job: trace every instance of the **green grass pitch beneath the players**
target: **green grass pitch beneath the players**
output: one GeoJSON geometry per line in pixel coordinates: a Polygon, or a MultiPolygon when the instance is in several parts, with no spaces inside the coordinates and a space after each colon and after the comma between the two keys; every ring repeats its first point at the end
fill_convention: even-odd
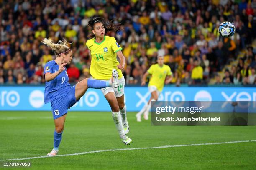
{"type": "MultiPolygon", "coordinates": [[[[133,139],[125,146],[110,112],[69,112],[59,154],[120,148],[256,140],[255,126],[151,126],[128,112],[133,139]]],[[[44,156],[53,147],[51,112],[0,112],[0,160],[44,156]]],[[[0,169],[255,169],[256,142],[118,150],[74,156],[0,161],[0,169]],[[30,162],[31,167],[3,167],[30,162]]]]}

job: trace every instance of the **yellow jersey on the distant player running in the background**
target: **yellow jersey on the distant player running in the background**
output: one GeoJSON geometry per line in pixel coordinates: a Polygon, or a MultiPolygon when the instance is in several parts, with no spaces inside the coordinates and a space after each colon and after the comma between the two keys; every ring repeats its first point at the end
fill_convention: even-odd
{"type": "Polygon", "coordinates": [[[153,64],[148,69],[148,73],[151,74],[148,86],[154,85],[157,90],[162,91],[164,88],[164,81],[167,75],[172,75],[171,68],[168,65],[160,67],[159,64],[153,64]]]}

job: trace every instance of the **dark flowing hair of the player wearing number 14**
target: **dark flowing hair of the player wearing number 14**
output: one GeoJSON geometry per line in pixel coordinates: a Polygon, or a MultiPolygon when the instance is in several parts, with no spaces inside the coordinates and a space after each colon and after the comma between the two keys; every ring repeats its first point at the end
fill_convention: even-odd
{"type": "MultiPolygon", "coordinates": [[[[121,24],[120,23],[114,24],[114,20],[109,21],[109,20],[105,20],[104,18],[94,17],[90,19],[90,21],[88,22],[88,25],[93,29],[95,23],[103,24],[105,28],[105,35],[107,34],[107,32],[110,32],[110,31],[118,32],[121,30],[121,24]]],[[[91,32],[87,37],[91,39],[91,38],[94,38],[95,35],[91,32]]]]}

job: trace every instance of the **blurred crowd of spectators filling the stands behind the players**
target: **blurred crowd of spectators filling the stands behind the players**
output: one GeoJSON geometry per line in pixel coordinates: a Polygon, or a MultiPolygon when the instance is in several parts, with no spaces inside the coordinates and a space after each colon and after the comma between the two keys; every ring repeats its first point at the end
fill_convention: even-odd
{"type": "Polygon", "coordinates": [[[210,78],[215,84],[256,83],[256,0],[0,1],[0,84],[44,83],[44,65],[54,59],[41,43],[45,37],[72,42],[70,82],[90,77],[85,44],[92,16],[122,24],[108,35],[123,47],[126,84],[141,83],[157,55],[171,67],[176,85],[207,84],[210,78]],[[231,38],[218,34],[226,20],[236,26],[231,38]]]}

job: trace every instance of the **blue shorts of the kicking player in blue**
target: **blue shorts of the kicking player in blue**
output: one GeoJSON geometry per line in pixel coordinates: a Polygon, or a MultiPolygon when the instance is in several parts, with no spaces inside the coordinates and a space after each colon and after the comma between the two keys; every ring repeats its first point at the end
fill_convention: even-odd
{"type": "Polygon", "coordinates": [[[67,93],[56,100],[51,101],[51,110],[54,119],[57,119],[67,113],[69,107],[72,107],[76,102],[75,97],[76,85],[70,87],[67,93]]]}

